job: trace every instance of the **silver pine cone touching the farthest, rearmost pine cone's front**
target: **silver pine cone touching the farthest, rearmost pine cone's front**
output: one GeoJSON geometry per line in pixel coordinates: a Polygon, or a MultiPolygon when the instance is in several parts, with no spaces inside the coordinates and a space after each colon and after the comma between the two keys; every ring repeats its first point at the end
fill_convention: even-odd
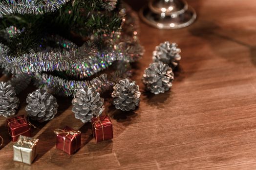
{"type": "Polygon", "coordinates": [[[167,64],[157,62],[146,68],[142,82],[151,93],[159,94],[171,88],[173,79],[172,69],[167,64]]]}

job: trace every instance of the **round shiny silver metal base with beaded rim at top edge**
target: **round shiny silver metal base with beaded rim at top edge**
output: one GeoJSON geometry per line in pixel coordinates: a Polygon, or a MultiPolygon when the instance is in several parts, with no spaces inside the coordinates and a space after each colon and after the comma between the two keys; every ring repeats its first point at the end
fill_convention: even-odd
{"type": "Polygon", "coordinates": [[[140,17],[159,29],[179,29],[192,24],[196,13],[185,0],[149,0],[140,17]]]}

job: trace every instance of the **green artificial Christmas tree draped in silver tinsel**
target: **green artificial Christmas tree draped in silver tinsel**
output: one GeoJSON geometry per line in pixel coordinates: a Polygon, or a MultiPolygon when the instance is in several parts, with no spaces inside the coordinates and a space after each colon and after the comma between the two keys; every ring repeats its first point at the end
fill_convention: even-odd
{"type": "Polygon", "coordinates": [[[143,54],[136,17],[119,0],[7,0],[0,17],[1,67],[52,94],[109,90],[143,54]]]}

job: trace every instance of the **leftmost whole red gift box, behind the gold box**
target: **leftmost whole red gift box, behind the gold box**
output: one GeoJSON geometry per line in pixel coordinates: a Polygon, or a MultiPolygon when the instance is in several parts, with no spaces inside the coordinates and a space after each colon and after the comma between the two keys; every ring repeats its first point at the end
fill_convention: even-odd
{"type": "Polygon", "coordinates": [[[6,119],[6,121],[13,142],[16,142],[20,135],[31,137],[31,126],[24,115],[6,119]]]}

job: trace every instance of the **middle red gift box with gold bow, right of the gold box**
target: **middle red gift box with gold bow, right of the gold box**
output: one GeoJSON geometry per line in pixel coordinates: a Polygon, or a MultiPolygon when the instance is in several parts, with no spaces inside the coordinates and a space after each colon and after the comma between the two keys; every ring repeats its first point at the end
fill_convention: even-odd
{"type": "Polygon", "coordinates": [[[62,129],[55,129],[57,134],[56,148],[68,153],[75,153],[81,147],[81,132],[68,126],[62,129]]]}

